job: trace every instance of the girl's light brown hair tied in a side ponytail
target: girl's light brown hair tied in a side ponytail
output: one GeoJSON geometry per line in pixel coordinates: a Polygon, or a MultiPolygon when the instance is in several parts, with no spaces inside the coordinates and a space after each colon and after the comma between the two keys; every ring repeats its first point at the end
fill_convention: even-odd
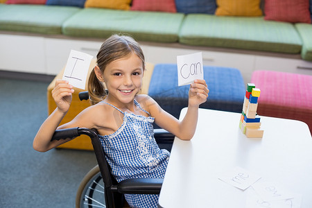
{"type": "MultiPolygon", "coordinates": [[[[145,70],[145,58],[139,44],[130,36],[112,35],[103,42],[100,51],[98,51],[96,64],[103,73],[107,64],[125,58],[132,53],[135,53],[142,60],[142,67],[145,70]]],[[[107,96],[105,86],[96,78],[94,69],[89,76],[88,92],[92,105],[103,101],[107,96]]]]}

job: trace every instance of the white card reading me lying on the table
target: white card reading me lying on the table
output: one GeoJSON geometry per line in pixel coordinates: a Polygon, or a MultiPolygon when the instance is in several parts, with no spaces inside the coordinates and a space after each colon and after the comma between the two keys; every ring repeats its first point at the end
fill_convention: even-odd
{"type": "Polygon", "coordinates": [[[254,182],[257,182],[261,177],[237,166],[232,171],[229,171],[218,178],[236,188],[245,190],[250,187],[250,185],[254,184],[254,182]]]}

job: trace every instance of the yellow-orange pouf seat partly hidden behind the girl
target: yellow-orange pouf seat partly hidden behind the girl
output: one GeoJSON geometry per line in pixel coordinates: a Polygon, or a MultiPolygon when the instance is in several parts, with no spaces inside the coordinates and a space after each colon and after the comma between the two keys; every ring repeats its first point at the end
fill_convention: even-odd
{"type": "MultiPolygon", "coordinates": [[[[89,74],[91,73],[92,69],[96,65],[96,59],[93,59],[89,71],[88,71],[88,76],[87,80],[89,80],[89,74]]],[[[55,81],[62,79],[63,73],[64,73],[65,67],[58,73],[57,76],[53,79],[53,81],[50,83],[47,89],[47,97],[48,97],[48,112],[51,114],[55,108],[56,104],[53,100],[52,97],[52,89],[55,86],[55,81]]],[[[148,93],[148,87],[150,85],[150,78],[152,76],[154,70],[154,64],[151,63],[146,63],[146,71],[144,71],[144,77],[143,77],[143,84],[141,88],[141,94],[147,94],[148,93]]],[[[75,118],[81,111],[83,111],[86,107],[90,106],[89,101],[80,101],[78,94],[79,92],[87,91],[87,82],[85,84],[85,90],[79,89],[79,88],[74,88],[75,92],[73,92],[73,98],[71,101],[71,107],[69,107],[69,111],[67,112],[66,116],[64,116],[64,119],[60,123],[60,125],[67,123],[73,118],[75,118]]],[[[80,137],[77,137],[76,139],[73,139],[67,143],[61,144],[58,146],[58,148],[70,148],[70,149],[80,149],[80,150],[93,150],[91,139],[85,135],[81,135],[80,137]]]]}

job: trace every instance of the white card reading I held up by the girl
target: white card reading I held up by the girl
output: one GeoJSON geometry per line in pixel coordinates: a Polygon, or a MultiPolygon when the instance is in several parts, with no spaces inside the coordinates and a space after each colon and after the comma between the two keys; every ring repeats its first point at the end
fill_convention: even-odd
{"type": "Polygon", "coordinates": [[[71,50],[63,74],[63,80],[68,80],[70,85],[85,89],[85,82],[93,56],[80,51],[71,50]]]}

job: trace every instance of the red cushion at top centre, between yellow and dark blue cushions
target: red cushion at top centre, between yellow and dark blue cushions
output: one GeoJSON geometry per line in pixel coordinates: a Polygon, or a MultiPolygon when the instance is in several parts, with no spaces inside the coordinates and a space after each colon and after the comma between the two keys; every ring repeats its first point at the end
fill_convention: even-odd
{"type": "Polygon", "coordinates": [[[177,12],[175,0],[133,0],[131,10],[177,12]]]}

